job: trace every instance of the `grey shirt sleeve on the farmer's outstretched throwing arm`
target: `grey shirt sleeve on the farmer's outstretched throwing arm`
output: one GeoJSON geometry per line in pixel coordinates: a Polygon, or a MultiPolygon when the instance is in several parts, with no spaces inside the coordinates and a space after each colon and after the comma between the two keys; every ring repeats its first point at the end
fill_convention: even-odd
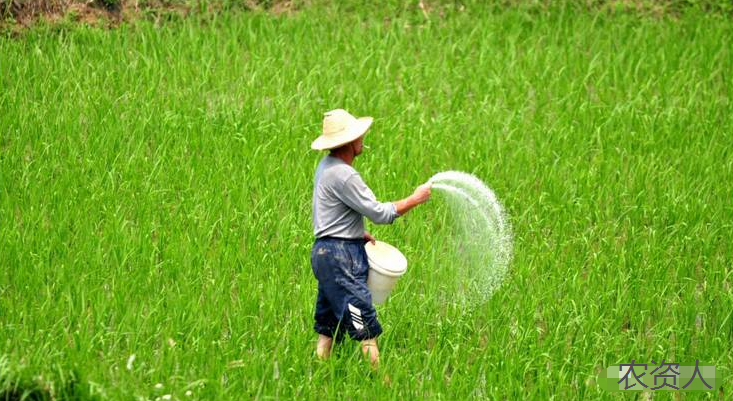
{"type": "Polygon", "coordinates": [[[391,224],[399,216],[394,203],[377,201],[374,192],[367,187],[359,173],[351,174],[344,181],[338,197],[347,206],[366,216],[375,224],[391,224]]]}

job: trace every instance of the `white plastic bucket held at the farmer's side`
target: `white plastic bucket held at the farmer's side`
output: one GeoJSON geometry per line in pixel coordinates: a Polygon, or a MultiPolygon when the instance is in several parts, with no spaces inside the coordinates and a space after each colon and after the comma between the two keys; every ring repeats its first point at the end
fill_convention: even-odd
{"type": "Polygon", "coordinates": [[[400,278],[407,271],[407,259],[390,244],[376,241],[376,245],[367,242],[364,246],[369,260],[367,287],[372,293],[372,302],[384,303],[400,278]]]}

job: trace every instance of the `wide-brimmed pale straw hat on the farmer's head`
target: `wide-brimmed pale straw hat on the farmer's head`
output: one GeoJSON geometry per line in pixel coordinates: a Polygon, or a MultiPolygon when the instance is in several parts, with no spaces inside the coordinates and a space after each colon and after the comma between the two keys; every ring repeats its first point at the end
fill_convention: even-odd
{"type": "Polygon", "coordinates": [[[343,109],[328,111],[323,116],[323,134],[311,143],[311,149],[338,148],[364,135],[370,125],[371,117],[356,118],[343,109]]]}

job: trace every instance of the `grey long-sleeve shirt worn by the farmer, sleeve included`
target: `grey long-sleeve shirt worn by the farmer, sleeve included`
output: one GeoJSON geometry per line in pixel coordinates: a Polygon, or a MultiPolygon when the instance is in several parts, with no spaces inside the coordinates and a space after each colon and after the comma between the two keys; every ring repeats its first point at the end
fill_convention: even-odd
{"type": "Polygon", "coordinates": [[[363,238],[363,216],[376,224],[391,224],[399,216],[394,203],[377,201],[359,173],[337,157],[326,156],[321,160],[314,181],[316,238],[363,238]]]}

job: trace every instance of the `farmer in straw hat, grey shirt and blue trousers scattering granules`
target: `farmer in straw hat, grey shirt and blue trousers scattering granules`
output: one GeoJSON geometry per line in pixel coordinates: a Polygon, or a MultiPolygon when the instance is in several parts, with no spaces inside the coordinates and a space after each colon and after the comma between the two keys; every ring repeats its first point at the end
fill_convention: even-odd
{"type": "Polygon", "coordinates": [[[371,117],[355,118],[346,110],[327,112],[323,134],[311,144],[315,150],[330,150],[316,168],[313,186],[313,233],[311,267],[318,279],[315,324],[316,354],[326,359],[333,339],[344,330],[361,341],[361,350],[373,366],[379,361],[377,336],[382,327],[367,289],[369,269],[364,245],[374,237],[364,230],[366,216],[376,224],[390,224],[430,198],[430,184],[423,184],[405,199],[379,202],[352,167],[361,154],[371,117]]]}

